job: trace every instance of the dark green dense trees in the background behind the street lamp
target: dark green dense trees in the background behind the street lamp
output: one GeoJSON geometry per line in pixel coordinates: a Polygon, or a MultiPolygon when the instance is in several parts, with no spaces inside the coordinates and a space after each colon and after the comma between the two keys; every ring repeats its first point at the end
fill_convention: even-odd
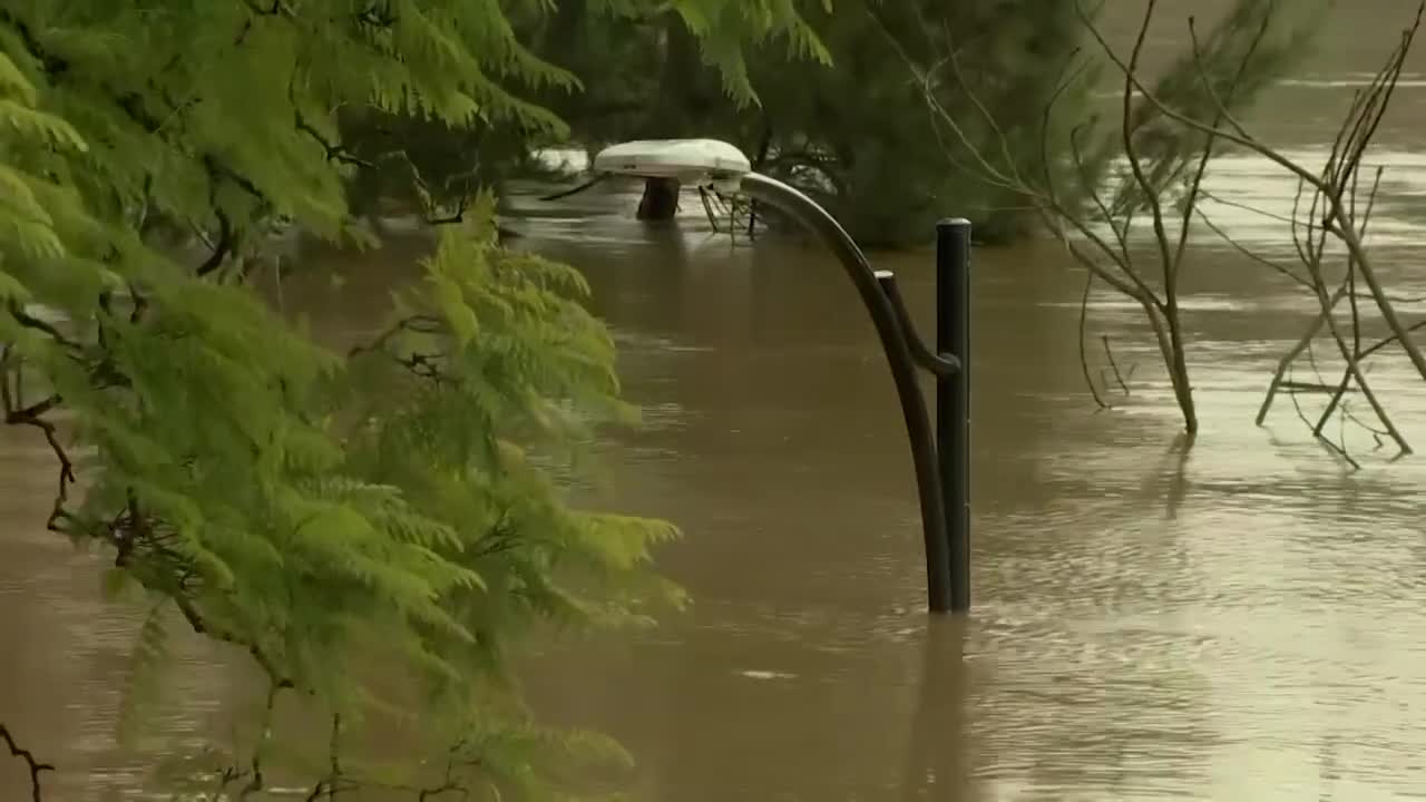
{"type": "MultiPolygon", "coordinates": [[[[944,167],[945,143],[925,94],[964,113],[971,127],[977,114],[955,81],[918,81],[910,63],[954,44],[965,80],[1005,120],[1015,158],[1028,168],[1044,154],[1035,103],[1027,98],[1047,97],[1068,54],[1087,40],[1074,3],[1055,0],[848,0],[834,11],[807,1],[803,16],[830,64],[760,50],[746,73],[760,103],[746,104],[729,96],[677,16],[609,17],[582,7],[583,0],[560,3],[532,36],[548,59],[590,77],[589,91],[549,98],[570,123],[573,141],[596,150],[643,137],[729,140],[763,171],[817,196],[868,245],[921,243],[950,213],[973,217],[980,235],[995,240],[1021,235],[1031,220],[1011,193],[974,170],[944,167]]],[[[975,137],[978,147],[1000,148],[990,130],[975,137]]],[[[1057,146],[1052,160],[1062,156],[1057,146]]],[[[452,171],[465,167],[451,163],[452,171]]]]}

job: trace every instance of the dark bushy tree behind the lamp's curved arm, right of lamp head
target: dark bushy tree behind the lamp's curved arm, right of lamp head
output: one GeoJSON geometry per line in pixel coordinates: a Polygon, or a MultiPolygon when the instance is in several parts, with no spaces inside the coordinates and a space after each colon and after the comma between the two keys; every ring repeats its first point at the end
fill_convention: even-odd
{"type": "MultiPolygon", "coordinates": [[[[770,144],[766,171],[817,196],[871,245],[925,243],[953,208],[983,241],[1030,233],[1035,214],[1017,193],[980,170],[947,164],[955,146],[927,113],[927,97],[955,117],[974,148],[1022,171],[1038,174],[1045,160],[1058,170],[1068,146],[1051,141],[1044,150],[1038,108],[1025,98],[1047,97],[1084,40],[1072,4],[856,0],[810,19],[833,68],[764,63],[753,73],[754,86],[776,93],[746,126],[749,136],[764,137],[757,147],[770,144]],[[964,86],[935,68],[950,54],[964,86]],[[903,57],[928,66],[928,80],[908,80],[903,57]]],[[[1064,113],[1085,114],[1088,100],[1087,91],[1065,93],[1064,113]]]]}

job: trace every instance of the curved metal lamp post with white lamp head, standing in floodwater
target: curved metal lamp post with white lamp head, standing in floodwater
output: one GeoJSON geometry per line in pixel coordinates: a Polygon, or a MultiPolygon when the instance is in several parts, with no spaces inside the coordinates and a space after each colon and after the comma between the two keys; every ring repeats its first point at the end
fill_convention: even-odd
{"type": "MultiPolygon", "coordinates": [[[[958,441],[954,444],[958,447],[955,451],[965,451],[968,445],[964,431],[961,437],[953,432],[961,427],[957,427],[954,404],[948,404],[963,395],[954,392],[950,384],[958,375],[961,381],[957,384],[964,385],[963,364],[955,355],[933,354],[921,342],[896,288],[894,275],[890,271],[873,271],[861,248],[827,210],[797,188],[753,173],[747,157],[732,144],[717,140],[630,141],[600,151],[595,157],[593,170],[599,174],[677,178],[682,183],[710,186],[724,193],[742,190],[752,198],[793,215],[831,248],[871,315],[901,401],[901,415],[911,442],[915,487],[921,501],[928,606],[933,612],[967,609],[970,606],[968,512],[963,509],[967,504],[963,487],[967,465],[964,460],[948,460],[953,457],[950,440],[958,441]],[[937,418],[941,437],[933,434],[925,400],[917,385],[918,365],[937,377],[940,391],[937,418]],[[950,472],[958,475],[953,477],[950,472]],[[951,511],[947,509],[948,501],[954,502],[951,511]],[[951,537],[950,529],[955,529],[955,537],[951,537]]],[[[947,221],[938,227],[938,255],[954,257],[954,251],[943,247],[948,241],[947,234],[951,240],[958,238],[968,244],[968,224],[947,221]]],[[[938,268],[947,261],[938,258],[938,268]]],[[[964,258],[961,267],[964,268],[964,258]]],[[[945,270],[938,270],[938,284],[950,287],[948,277],[941,275],[944,273],[945,270]]],[[[937,308],[938,320],[945,321],[948,310],[940,307],[941,304],[937,308]]],[[[955,327],[938,325],[941,330],[937,337],[938,345],[951,345],[945,341],[947,337],[940,335],[951,328],[955,327]]],[[[964,337],[960,344],[964,345],[964,337]]],[[[960,418],[967,415],[960,414],[960,418]]]]}

